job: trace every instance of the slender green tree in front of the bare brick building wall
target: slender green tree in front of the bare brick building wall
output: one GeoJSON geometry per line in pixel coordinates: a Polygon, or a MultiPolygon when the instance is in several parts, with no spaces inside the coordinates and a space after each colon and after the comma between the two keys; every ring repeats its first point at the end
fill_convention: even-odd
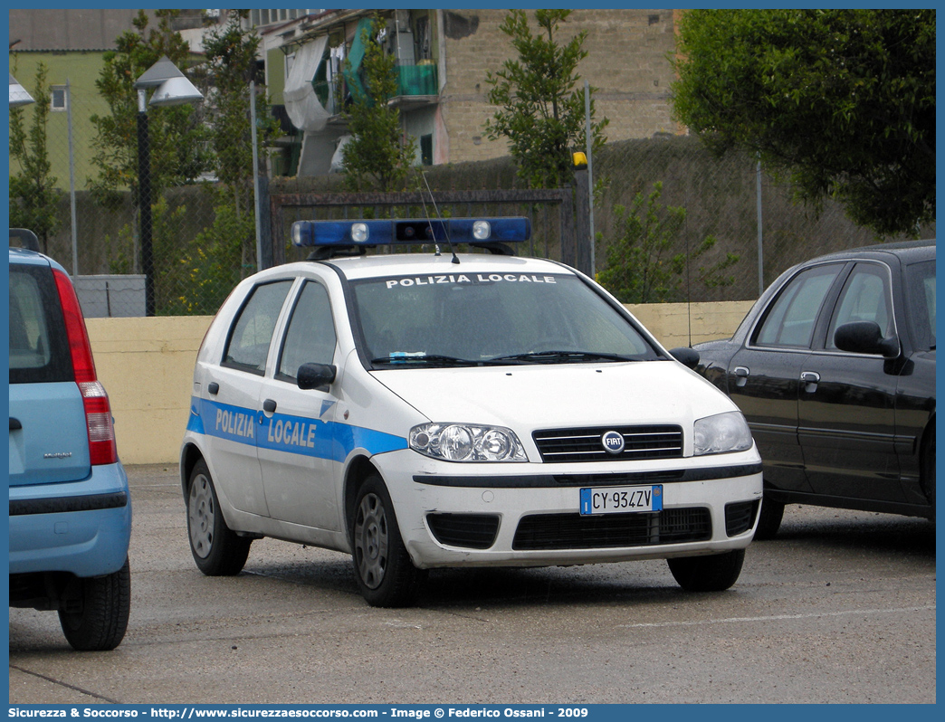
{"type": "MultiPolygon", "coordinates": [[[[556,37],[570,14],[565,9],[536,10],[540,34],[533,34],[524,10],[510,10],[499,28],[518,51],[518,59],[506,60],[501,70],[486,76],[489,101],[499,106],[486,122],[486,133],[490,140],[508,139],[519,177],[533,188],[558,188],[571,181],[572,151],[587,145],[584,88],[576,87],[577,63],[588,55],[583,49],[587,31],[563,45],[556,37]]],[[[593,99],[591,117],[596,149],[607,142],[604,129],[609,121],[605,117],[593,122],[593,99]]]]}

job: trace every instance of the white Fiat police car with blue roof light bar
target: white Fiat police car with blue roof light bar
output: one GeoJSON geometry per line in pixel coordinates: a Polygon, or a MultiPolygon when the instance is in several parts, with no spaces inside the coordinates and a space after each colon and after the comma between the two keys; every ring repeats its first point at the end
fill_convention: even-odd
{"type": "Polygon", "coordinates": [[[273,537],[351,554],[375,606],[438,567],[668,559],[686,590],[736,581],[762,495],[744,417],[591,279],[508,255],[529,232],[293,226],[310,260],[236,286],[198,352],[180,472],[200,570],[238,574],[273,537]],[[364,253],[403,244],[430,250],[364,253]]]}

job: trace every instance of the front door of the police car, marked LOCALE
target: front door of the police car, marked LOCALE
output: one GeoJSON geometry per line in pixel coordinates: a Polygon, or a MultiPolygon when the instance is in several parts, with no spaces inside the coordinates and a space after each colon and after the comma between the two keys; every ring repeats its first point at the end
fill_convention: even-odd
{"type": "Polygon", "coordinates": [[[302,389],[302,364],[332,364],[336,335],[323,284],[301,285],[285,326],[274,373],[262,385],[263,426],[257,440],[269,515],[293,524],[341,528],[335,455],[335,396],[328,388],[302,389]]]}

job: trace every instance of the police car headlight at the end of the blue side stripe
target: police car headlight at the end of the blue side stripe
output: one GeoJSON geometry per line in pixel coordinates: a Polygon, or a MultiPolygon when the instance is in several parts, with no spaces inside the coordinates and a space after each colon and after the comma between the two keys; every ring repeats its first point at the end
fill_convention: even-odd
{"type": "Polygon", "coordinates": [[[410,429],[410,448],[446,461],[527,461],[515,432],[472,423],[421,423],[410,429]]]}

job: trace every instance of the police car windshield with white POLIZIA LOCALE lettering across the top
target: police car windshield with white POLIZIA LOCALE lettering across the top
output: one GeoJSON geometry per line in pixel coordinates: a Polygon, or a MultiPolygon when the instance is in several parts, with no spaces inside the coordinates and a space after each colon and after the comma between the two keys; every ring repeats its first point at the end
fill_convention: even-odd
{"type": "Polygon", "coordinates": [[[576,276],[450,273],[352,282],[374,368],[644,361],[656,350],[576,276]]]}

